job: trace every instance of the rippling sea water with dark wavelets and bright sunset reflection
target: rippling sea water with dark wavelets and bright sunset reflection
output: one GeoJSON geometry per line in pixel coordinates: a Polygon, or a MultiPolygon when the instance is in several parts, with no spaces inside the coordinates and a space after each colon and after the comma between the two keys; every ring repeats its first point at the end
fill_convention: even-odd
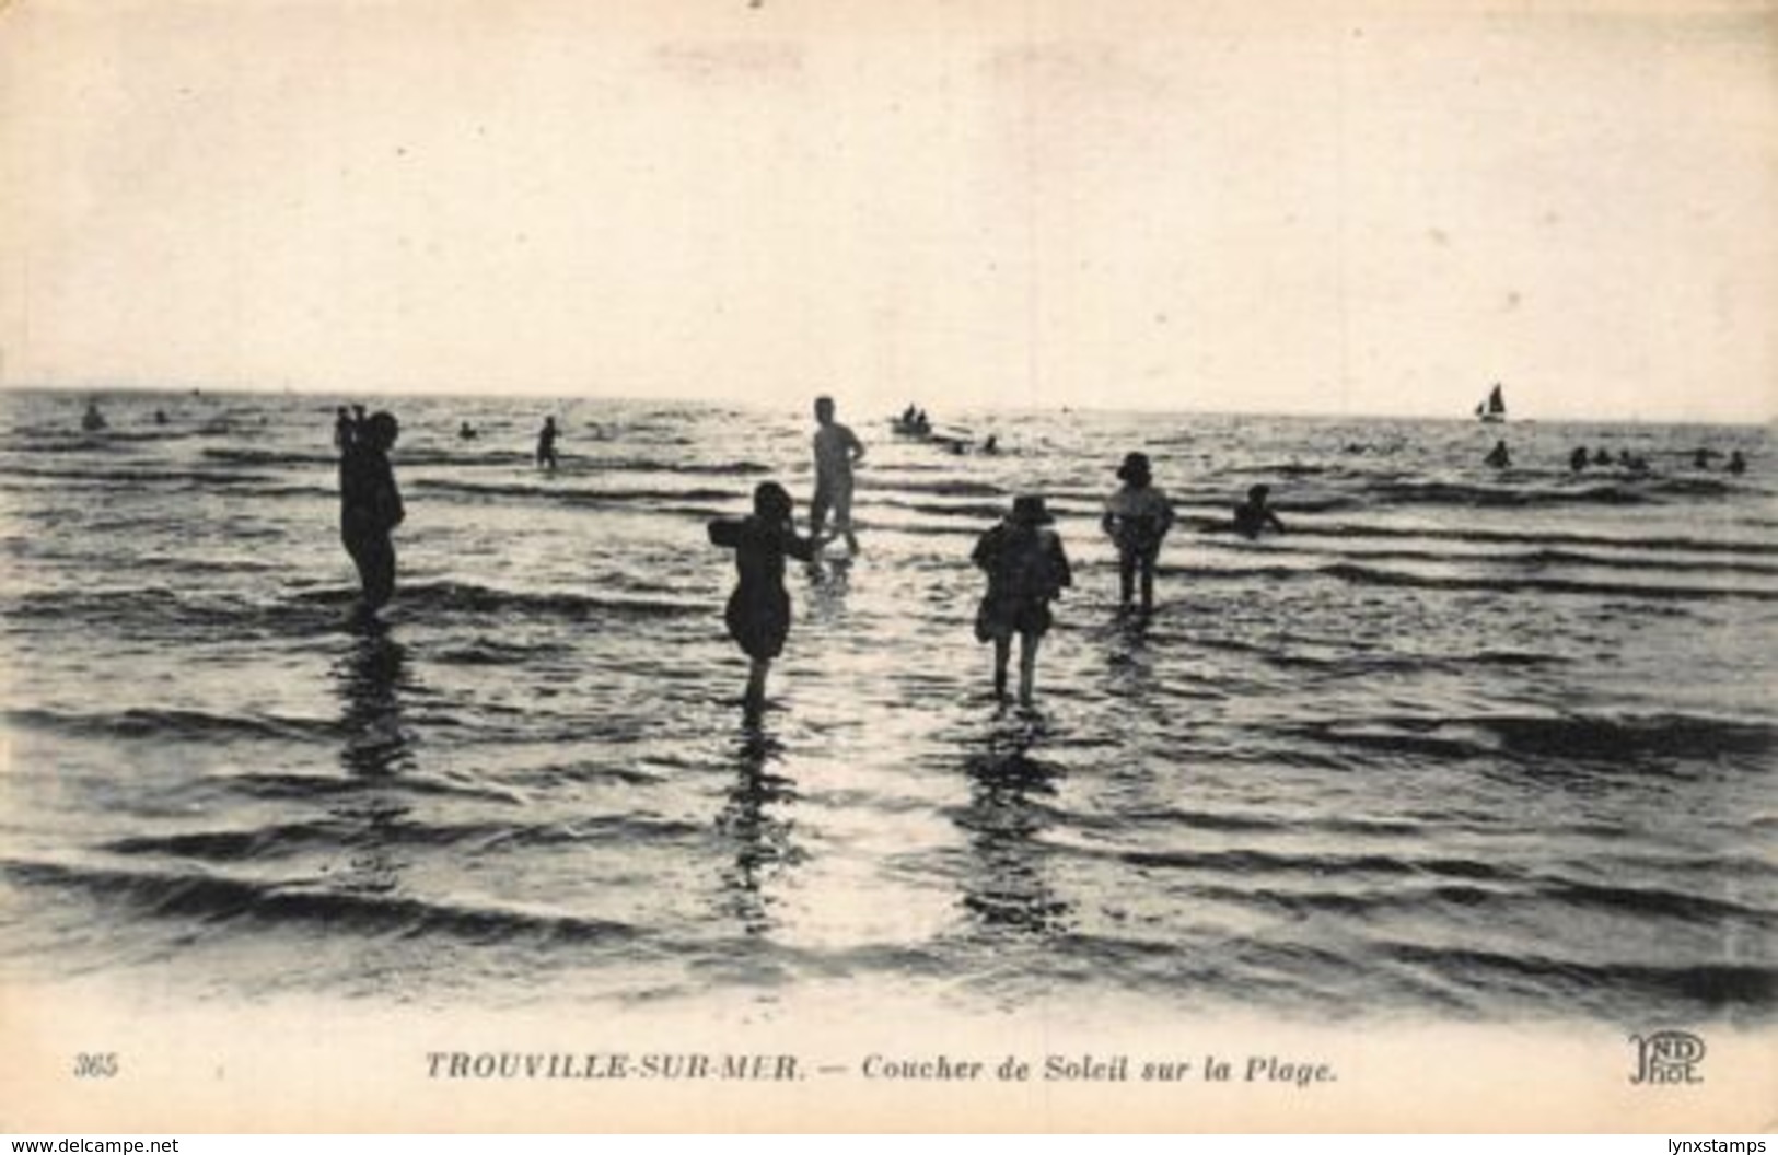
{"type": "Polygon", "coordinates": [[[119,394],[84,434],[84,398],[0,394],[0,972],[496,1008],[1773,1009],[1767,430],[941,414],[983,455],[843,410],[862,553],[791,569],[747,725],[704,526],[766,478],[805,517],[805,412],[388,400],[400,585],[357,631],[334,403],[119,394]],[[1577,444],[1650,471],[1572,473],[1577,444]],[[1118,615],[1097,524],[1131,450],[1181,512],[1150,618],[1118,615]],[[1257,482],[1285,535],[1205,531],[1257,482]],[[971,633],[971,546],[1021,492],[1076,567],[1031,711],[971,633]]]}

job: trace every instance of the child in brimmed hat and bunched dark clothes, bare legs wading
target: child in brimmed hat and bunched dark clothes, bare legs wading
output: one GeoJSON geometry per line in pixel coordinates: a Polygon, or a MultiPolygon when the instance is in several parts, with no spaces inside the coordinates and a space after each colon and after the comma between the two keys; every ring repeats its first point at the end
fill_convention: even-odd
{"type": "Polygon", "coordinates": [[[1006,663],[1019,634],[1019,702],[1037,689],[1037,647],[1051,625],[1049,602],[1074,585],[1061,538],[1044,499],[1021,496],[1012,512],[976,540],[971,560],[989,576],[976,608],[976,640],[994,643],[994,695],[1006,697],[1006,663]]]}

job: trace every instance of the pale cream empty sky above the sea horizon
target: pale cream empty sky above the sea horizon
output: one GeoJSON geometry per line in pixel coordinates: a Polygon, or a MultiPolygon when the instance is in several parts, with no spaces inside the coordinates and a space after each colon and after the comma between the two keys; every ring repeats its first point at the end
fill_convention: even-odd
{"type": "Polygon", "coordinates": [[[1778,5],[14,0],[9,384],[1778,416],[1778,5]]]}

